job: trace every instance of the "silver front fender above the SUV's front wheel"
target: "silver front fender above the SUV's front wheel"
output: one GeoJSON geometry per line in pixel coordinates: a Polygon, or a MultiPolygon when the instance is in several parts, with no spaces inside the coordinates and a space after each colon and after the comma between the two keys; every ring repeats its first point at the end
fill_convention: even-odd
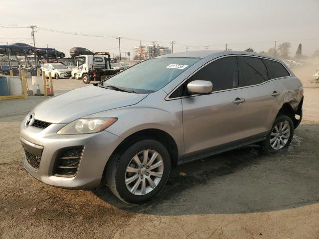
{"type": "MultiPolygon", "coordinates": [[[[184,153],[181,100],[162,101],[160,108],[146,106],[148,97],[134,106],[96,113],[89,118],[116,117],[118,120],[106,129],[122,138],[144,129],[160,129],[176,142],[178,152],[184,153]]],[[[151,100],[152,101],[152,100],[151,100]]]]}

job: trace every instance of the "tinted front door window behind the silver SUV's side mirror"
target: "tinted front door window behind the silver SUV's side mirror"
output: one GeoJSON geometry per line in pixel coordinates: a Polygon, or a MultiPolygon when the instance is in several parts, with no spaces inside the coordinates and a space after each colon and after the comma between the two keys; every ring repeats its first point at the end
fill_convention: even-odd
{"type": "Polygon", "coordinates": [[[213,61],[196,72],[189,81],[204,80],[213,84],[213,92],[238,87],[237,57],[224,57],[213,61]]]}

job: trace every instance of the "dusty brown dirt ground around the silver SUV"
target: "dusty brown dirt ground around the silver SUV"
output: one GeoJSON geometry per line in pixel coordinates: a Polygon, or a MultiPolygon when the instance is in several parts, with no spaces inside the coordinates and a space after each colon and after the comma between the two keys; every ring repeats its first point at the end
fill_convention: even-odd
{"type": "MultiPolygon", "coordinates": [[[[43,97],[0,103],[0,238],[319,238],[318,66],[295,69],[304,119],[287,152],[230,151],[173,168],[152,202],[128,206],[108,188],[50,187],[22,165],[19,124],[43,97]],[[187,176],[178,176],[185,172],[187,176]]],[[[30,81],[29,81],[30,85],[30,81]]],[[[82,87],[54,80],[57,93],[82,87]]]]}

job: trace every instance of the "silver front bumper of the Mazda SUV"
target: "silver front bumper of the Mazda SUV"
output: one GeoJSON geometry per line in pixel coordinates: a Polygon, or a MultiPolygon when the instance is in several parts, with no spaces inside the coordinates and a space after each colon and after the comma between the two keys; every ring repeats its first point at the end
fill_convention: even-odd
{"type": "Polygon", "coordinates": [[[28,147],[25,145],[31,147],[35,144],[42,148],[38,170],[27,162],[26,157],[23,160],[25,169],[39,181],[55,187],[89,189],[98,186],[105,165],[122,138],[105,130],[94,134],[57,134],[56,132],[64,125],[52,123],[45,129],[41,129],[25,126],[25,120],[23,120],[20,127],[23,147],[28,147]],[[62,148],[73,146],[84,146],[76,175],[74,177],[54,176],[58,153],[62,148]]]}

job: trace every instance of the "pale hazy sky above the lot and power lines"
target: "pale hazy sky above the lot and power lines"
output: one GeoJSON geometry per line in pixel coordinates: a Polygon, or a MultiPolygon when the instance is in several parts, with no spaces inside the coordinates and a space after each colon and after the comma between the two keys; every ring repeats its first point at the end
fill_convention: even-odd
{"type": "MultiPolygon", "coordinates": [[[[274,47],[275,40],[277,44],[290,41],[291,56],[295,56],[299,43],[303,43],[306,55],[319,49],[319,0],[1,0],[1,8],[7,10],[1,11],[0,24],[111,36],[75,36],[37,29],[36,46],[48,44],[67,55],[75,46],[118,54],[118,40],[112,36],[175,40],[174,51],[185,51],[185,46],[204,50],[191,46],[206,45],[209,50],[224,49],[224,43],[229,43],[233,50],[252,47],[259,52],[274,47]]],[[[30,31],[0,27],[0,44],[32,43],[30,31]]],[[[139,44],[122,39],[121,52],[132,53],[139,44]]]]}

